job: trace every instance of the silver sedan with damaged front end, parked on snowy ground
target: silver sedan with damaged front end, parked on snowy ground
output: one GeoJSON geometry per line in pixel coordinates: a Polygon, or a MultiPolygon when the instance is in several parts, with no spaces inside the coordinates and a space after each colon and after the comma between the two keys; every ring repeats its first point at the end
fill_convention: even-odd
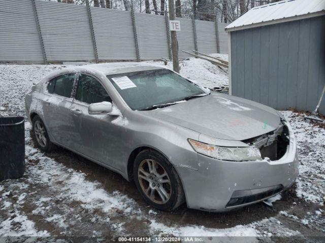
{"type": "Polygon", "coordinates": [[[165,68],[93,64],[26,95],[37,146],[67,148],[134,181],[159,210],[228,211],[292,185],[293,131],[276,110],[210,92],[165,68]]]}

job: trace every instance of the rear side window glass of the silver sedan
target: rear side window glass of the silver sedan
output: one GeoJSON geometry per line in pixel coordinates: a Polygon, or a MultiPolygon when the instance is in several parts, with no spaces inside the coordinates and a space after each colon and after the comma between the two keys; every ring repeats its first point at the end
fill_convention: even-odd
{"type": "Polygon", "coordinates": [[[69,98],[71,96],[75,76],[75,73],[68,73],[56,77],[48,84],[48,92],[69,98]]]}

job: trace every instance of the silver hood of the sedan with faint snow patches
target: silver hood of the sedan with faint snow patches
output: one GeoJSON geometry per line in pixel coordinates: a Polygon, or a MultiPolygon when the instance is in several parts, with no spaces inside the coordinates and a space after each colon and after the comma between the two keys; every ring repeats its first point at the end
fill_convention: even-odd
{"type": "Polygon", "coordinates": [[[188,100],[147,114],[210,137],[245,140],[275,130],[280,116],[271,107],[218,94],[188,100]]]}

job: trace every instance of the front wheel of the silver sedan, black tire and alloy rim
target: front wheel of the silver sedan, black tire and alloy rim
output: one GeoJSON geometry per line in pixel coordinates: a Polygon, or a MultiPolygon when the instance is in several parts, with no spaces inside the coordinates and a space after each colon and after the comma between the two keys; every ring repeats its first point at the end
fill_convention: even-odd
{"type": "Polygon", "coordinates": [[[173,211],[184,203],[184,191],[176,170],[157,151],[141,151],[135,159],[133,175],[142,197],[152,207],[173,211]]]}

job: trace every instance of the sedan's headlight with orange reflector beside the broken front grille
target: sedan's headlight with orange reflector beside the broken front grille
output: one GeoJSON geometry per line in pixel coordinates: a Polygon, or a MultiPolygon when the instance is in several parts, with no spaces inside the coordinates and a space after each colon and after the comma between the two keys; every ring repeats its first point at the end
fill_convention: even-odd
{"type": "Polygon", "coordinates": [[[188,142],[198,153],[220,160],[243,161],[262,160],[261,152],[255,147],[219,147],[188,139],[188,142]]]}

